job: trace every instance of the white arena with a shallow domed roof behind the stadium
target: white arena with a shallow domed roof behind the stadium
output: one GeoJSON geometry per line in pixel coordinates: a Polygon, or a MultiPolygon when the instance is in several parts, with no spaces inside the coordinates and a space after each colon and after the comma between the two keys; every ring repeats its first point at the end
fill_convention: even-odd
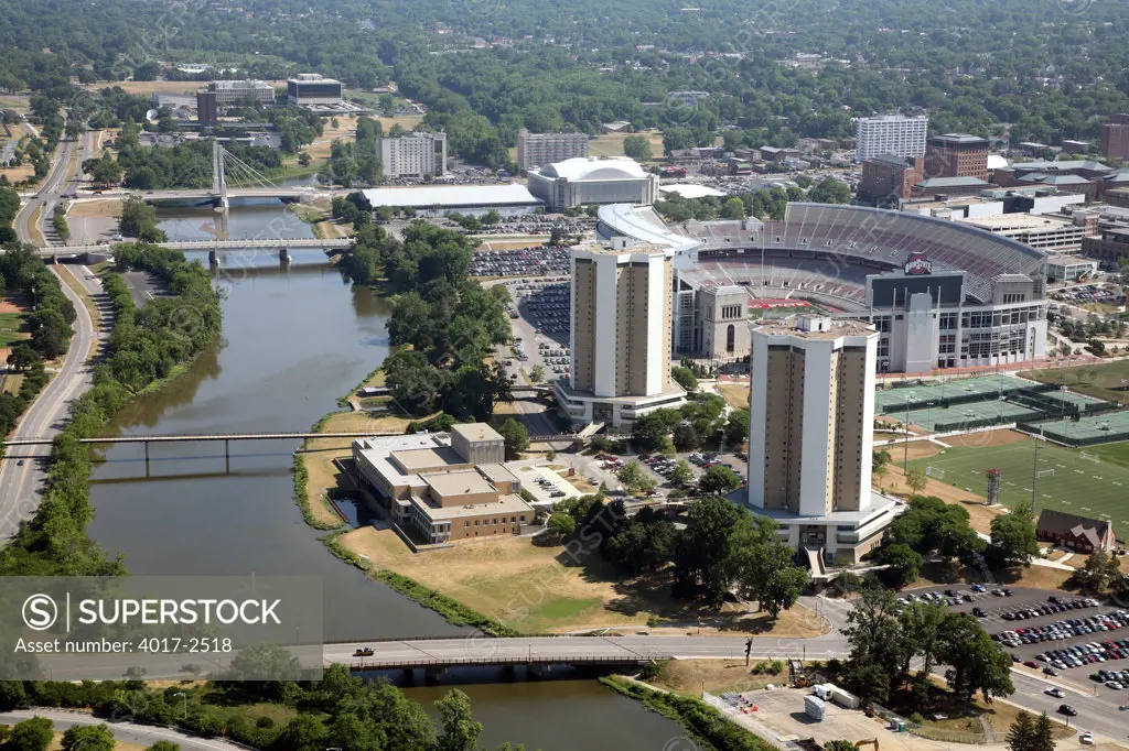
{"type": "Polygon", "coordinates": [[[576,158],[531,169],[530,193],[551,211],[605,203],[650,205],[658,197],[658,175],[633,159],[576,158]]]}

